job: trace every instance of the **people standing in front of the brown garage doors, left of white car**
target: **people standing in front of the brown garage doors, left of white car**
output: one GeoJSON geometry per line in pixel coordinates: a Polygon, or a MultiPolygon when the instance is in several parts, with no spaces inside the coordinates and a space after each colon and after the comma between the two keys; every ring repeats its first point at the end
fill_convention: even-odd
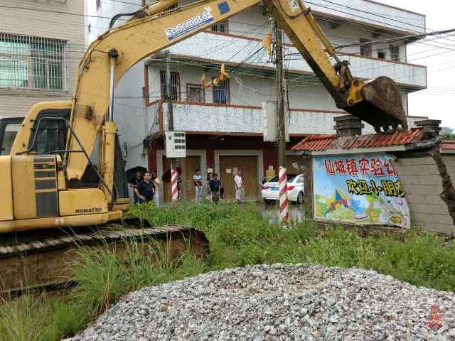
{"type": "MultiPolygon", "coordinates": [[[[200,202],[200,195],[202,194],[202,175],[200,175],[200,170],[196,169],[195,175],[193,176],[193,182],[195,186],[195,195],[194,200],[200,202]]],[[[237,171],[237,175],[234,177],[235,182],[235,200],[240,202],[242,198],[242,172],[237,171]]],[[[218,179],[217,173],[208,173],[207,181],[205,183],[207,186],[207,199],[218,204],[218,200],[224,198],[224,188],[222,187],[223,183],[218,179]]]]}

